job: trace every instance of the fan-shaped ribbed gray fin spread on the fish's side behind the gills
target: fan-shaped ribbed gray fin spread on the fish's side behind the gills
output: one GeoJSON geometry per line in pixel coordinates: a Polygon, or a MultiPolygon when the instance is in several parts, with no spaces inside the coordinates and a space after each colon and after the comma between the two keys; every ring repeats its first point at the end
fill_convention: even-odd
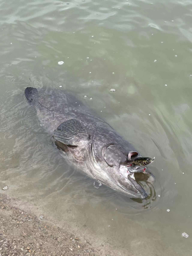
{"type": "Polygon", "coordinates": [[[61,123],[53,132],[53,136],[61,143],[71,146],[78,146],[81,140],[88,140],[89,138],[87,131],[76,119],[61,123]]]}

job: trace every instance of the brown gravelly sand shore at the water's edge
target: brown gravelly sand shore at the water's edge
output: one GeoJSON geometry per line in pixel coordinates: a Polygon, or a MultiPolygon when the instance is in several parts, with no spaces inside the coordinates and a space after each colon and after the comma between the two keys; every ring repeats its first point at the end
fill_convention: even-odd
{"type": "Polygon", "coordinates": [[[14,206],[14,199],[4,194],[0,194],[0,218],[0,256],[111,255],[93,248],[88,240],[14,206]]]}

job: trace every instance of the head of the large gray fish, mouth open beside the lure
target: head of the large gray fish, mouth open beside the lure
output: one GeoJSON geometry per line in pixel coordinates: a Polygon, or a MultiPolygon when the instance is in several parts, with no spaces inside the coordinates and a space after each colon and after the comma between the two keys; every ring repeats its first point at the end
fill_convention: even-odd
{"type": "MultiPolygon", "coordinates": [[[[130,196],[134,195],[137,198],[146,198],[148,195],[144,188],[138,183],[139,179],[135,179],[136,173],[146,174],[146,181],[150,178],[149,182],[155,181],[155,177],[147,172],[147,165],[143,164],[149,162],[151,163],[153,159],[151,158],[142,158],[142,164],[132,165],[130,160],[136,159],[138,155],[137,152],[131,152],[128,160],[128,155],[130,153],[125,153],[116,145],[108,145],[105,147],[103,152],[103,160],[107,164],[106,173],[110,174],[111,180],[118,186],[118,189],[124,194],[130,196]],[[143,166],[144,165],[144,166],[143,166]],[[147,172],[147,173],[146,173],[147,172]]],[[[138,158],[138,160],[141,160],[138,158]]],[[[104,169],[103,165],[103,169],[104,169]]],[[[138,175],[137,175],[138,176],[138,175]]]]}

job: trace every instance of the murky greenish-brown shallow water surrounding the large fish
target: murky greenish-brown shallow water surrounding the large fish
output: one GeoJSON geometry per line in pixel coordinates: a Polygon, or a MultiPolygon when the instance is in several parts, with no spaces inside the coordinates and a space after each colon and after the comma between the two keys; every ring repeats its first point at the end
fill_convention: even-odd
{"type": "Polygon", "coordinates": [[[0,0],[3,193],[116,255],[191,255],[191,7],[0,0]],[[27,86],[73,92],[142,155],[155,156],[151,199],[97,189],[78,173],[40,126],[27,86]]]}

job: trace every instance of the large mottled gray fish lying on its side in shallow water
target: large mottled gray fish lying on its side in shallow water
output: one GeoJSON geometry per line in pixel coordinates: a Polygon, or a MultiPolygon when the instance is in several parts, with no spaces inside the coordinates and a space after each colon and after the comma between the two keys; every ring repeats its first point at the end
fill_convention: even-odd
{"type": "MultiPolygon", "coordinates": [[[[92,114],[73,95],[62,90],[26,88],[42,126],[54,138],[56,146],[84,173],[129,197],[146,198],[147,193],[127,177],[127,166],[138,153],[108,123],[92,114]],[[127,164],[126,164],[127,163],[127,164]]],[[[145,170],[147,181],[153,174],[145,170]]]]}

